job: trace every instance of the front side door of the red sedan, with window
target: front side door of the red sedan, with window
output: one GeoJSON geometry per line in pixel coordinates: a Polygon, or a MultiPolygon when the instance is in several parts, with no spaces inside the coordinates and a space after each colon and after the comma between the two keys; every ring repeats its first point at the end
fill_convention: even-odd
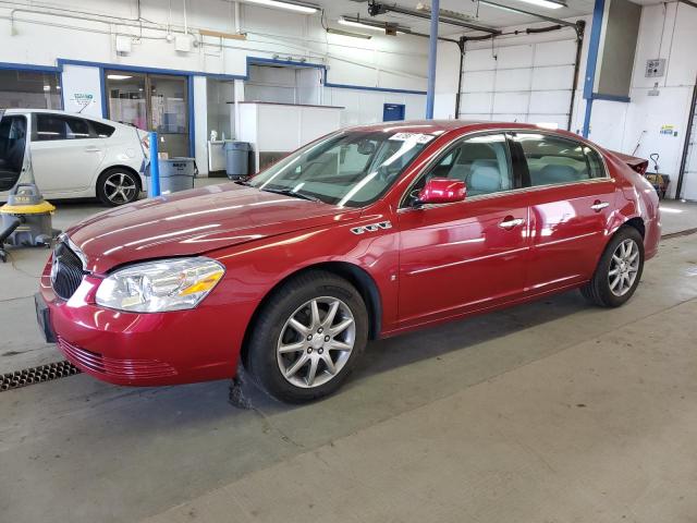
{"type": "Polygon", "coordinates": [[[482,309],[523,294],[528,208],[515,191],[501,134],[461,141],[416,185],[432,177],[465,181],[464,202],[399,211],[400,321],[404,325],[482,309]]]}

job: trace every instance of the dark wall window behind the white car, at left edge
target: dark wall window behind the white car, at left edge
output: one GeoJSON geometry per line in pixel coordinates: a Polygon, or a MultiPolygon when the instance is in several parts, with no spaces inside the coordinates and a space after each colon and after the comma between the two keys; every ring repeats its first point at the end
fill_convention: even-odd
{"type": "Polygon", "coordinates": [[[58,73],[0,70],[0,107],[23,109],[61,109],[58,73]]]}

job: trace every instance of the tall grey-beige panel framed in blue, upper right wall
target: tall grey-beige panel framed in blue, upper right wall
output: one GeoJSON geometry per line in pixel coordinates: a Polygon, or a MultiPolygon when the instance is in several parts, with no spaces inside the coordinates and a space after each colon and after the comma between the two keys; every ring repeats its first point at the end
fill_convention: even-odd
{"type": "Polygon", "coordinates": [[[640,19],[640,5],[606,0],[594,93],[628,101],[640,19]]]}

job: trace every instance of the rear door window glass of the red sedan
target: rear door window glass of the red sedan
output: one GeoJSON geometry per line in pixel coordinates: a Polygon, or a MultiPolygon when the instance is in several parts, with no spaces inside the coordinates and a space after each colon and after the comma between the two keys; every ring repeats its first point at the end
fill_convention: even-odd
{"type": "Polygon", "coordinates": [[[597,154],[573,139],[533,133],[515,133],[514,139],[523,147],[531,186],[580,182],[604,175],[597,154]],[[591,155],[595,155],[592,159],[591,155]]]}

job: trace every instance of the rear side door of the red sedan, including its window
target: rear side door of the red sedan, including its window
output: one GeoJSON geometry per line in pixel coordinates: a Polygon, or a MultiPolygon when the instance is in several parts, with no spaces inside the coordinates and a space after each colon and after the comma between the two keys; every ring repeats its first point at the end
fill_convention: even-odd
{"type": "Polygon", "coordinates": [[[554,134],[511,134],[528,186],[531,250],[526,289],[541,293],[588,280],[607,243],[615,184],[601,155],[554,134]]]}

